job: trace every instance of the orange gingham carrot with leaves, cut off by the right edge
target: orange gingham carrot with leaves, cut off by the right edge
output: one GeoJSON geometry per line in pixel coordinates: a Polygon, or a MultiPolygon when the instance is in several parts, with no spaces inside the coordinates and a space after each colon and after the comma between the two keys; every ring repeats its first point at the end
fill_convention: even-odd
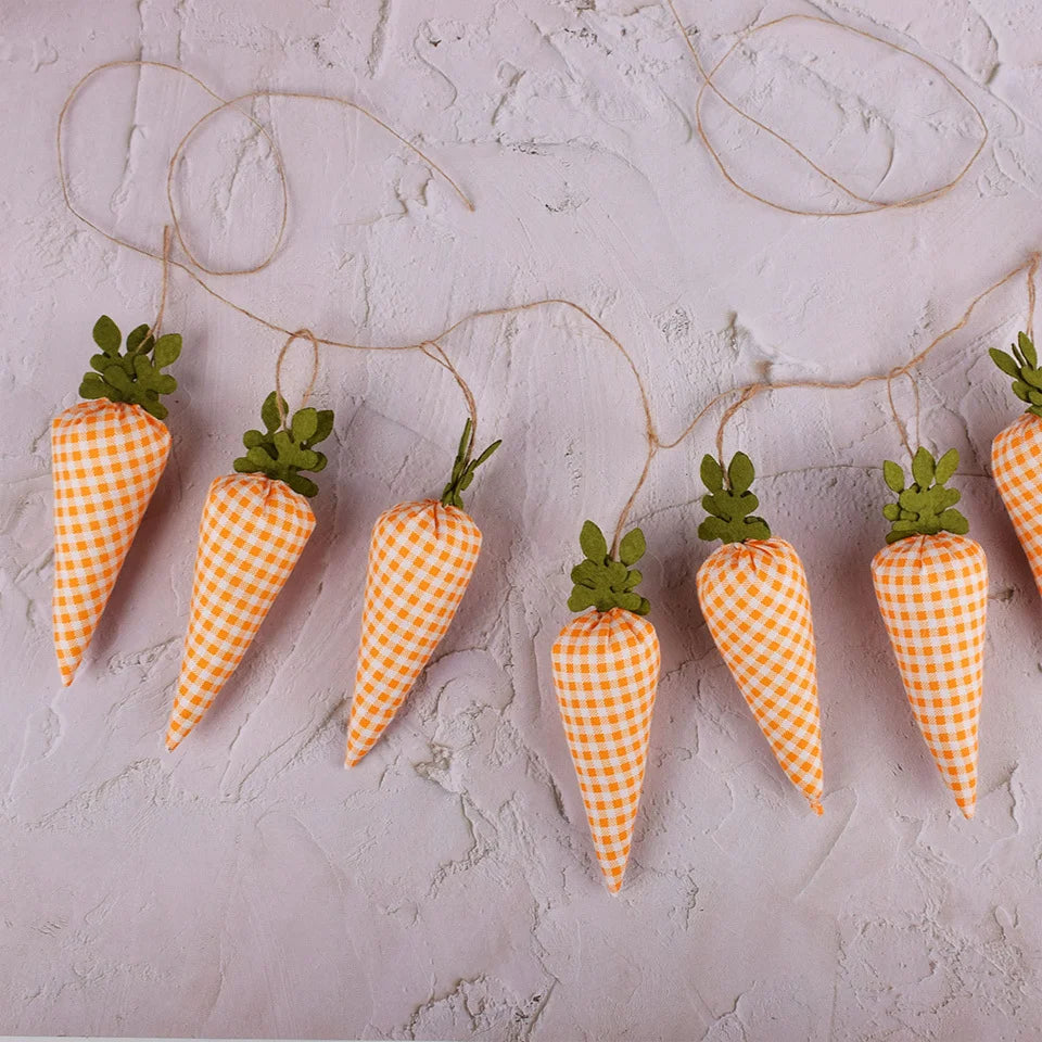
{"type": "Polygon", "coordinates": [[[989,354],[1013,377],[1013,393],[1028,406],[1018,420],[995,435],[991,470],[1042,594],[1042,369],[1027,333],[1019,334],[1013,354],[996,347],[989,354]]]}

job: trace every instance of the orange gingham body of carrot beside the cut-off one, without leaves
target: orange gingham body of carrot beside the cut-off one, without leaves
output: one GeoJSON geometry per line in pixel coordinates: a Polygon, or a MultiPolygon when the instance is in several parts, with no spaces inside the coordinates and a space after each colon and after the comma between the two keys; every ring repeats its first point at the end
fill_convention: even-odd
{"type": "Polygon", "coordinates": [[[900,539],[872,581],[923,737],[966,817],[977,801],[977,725],[984,678],[988,561],[964,535],[900,539]]]}

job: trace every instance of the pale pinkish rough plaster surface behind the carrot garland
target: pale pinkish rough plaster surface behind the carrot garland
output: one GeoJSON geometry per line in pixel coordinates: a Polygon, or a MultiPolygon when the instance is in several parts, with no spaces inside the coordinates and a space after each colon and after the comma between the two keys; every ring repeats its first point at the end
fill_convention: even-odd
{"type": "MultiPolygon", "coordinates": [[[[684,4],[707,56],[793,10],[721,8],[684,4]]],[[[964,506],[991,567],[973,823],[915,728],[873,599],[878,466],[898,452],[885,394],[775,395],[747,410],[732,447],[755,459],[762,512],[809,572],[825,816],[783,779],[701,623],[694,479],[708,425],[659,457],[636,510],[663,677],[626,884],[606,893],[548,652],[579,525],[612,524],[639,470],[640,416],[619,358],[560,310],[488,320],[448,344],[485,433],[506,441],[470,495],[485,547],[436,660],[361,766],[341,763],[369,525],[441,487],[458,393],[416,357],[326,352],[319,395],[338,422],[318,529],[234,681],[166,754],[203,497],[256,422],[279,346],[183,276],[166,320],[186,342],[167,472],[72,688],[53,663],[49,420],[76,401],[98,315],[126,330],[158,295],[157,265],[61,206],[52,135],[88,67],[141,56],[182,63],[229,97],[269,85],[369,102],[476,213],[358,117],[262,102],[287,157],[290,233],[270,269],[221,291],[378,343],[476,307],[569,296],[632,350],[668,434],[712,390],[758,373],[849,377],[903,360],[1042,243],[1033,4],[796,10],[910,42],[956,78],[992,131],[960,187],[849,220],[744,199],[692,134],[697,77],[655,3],[0,2],[0,1031],[1033,1037],[1039,601],[986,476],[990,440],[1017,411],[986,348],[1022,325],[1021,282],[922,383],[925,436],[962,452],[964,506]]],[[[965,109],[922,67],[823,30],[784,41],[737,63],[730,82],[852,183],[907,193],[968,154],[965,109]]],[[[91,87],[69,134],[77,198],[154,249],[166,158],[205,109],[162,73],[91,87]]],[[[829,205],[719,106],[707,119],[750,183],[829,205]]],[[[200,137],[179,185],[209,262],[264,254],[271,167],[241,120],[200,137]]]]}

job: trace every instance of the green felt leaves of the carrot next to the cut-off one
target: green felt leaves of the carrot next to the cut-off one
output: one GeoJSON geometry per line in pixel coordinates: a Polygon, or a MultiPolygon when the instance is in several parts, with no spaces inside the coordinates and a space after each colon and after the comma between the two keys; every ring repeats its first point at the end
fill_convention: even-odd
{"type": "Polygon", "coordinates": [[[911,485],[905,487],[904,468],[888,459],[882,465],[882,478],[891,492],[898,494],[897,503],[888,503],[882,516],[891,523],[887,543],[897,543],[912,535],[937,535],[951,532],[965,535],[969,522],[953,509],[962,499],[957,488],[944,485],[958,467],[958,452],[950,448],[940,459],[933,459],[920,445],[912,458],[911,485]]]}

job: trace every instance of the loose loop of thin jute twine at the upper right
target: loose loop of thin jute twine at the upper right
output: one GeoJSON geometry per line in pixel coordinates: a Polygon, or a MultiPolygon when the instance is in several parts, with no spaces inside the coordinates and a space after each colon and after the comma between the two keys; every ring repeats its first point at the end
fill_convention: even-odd
{"type": "Polygon", "coordinates": [[[899,43],[892,43],[889,40],[882,39],[882,37],[876,36],[873,33],[866,33],[863,29],[854,28],[852,25],[847,25],[842,22],[835,22],[831,18],[824,18],[819,15],[814,14],[786,14],[779,18],[773,18],[770,22],[764,22],[762,25],[757,25],[750,28],[749,30],[739,35],[738,39],[732,45],[732,47],[724,53],[724,56],[715,64],[712,68],[707,69],[702,63],[701,58],[699,56],[698,50],[691,41],[691,35],[688,33],[684,23],[681,21],[681,15],[676,10],[676,4],[674,0],[665,0],[666,5],[670,9],[670,12],[673,15],[673,21],[676,23],[676,27],[681,33],[681,36],[684,38],[684,42],[687,45],[688,51],[690,51],[691,58],[695,61],[695,66],[698,69],[699,75],[702,78],[701,87],[699,88],[698,94],[695,99],[695,123],[696,129],[698,131],[699,139],[702,142],[706,151],[712,156],[716,166],[720,169],[720,173],[723,175],[724,179],[727,181],[732,188],[741,192],[742,195],[748,196],[749,199],[755,200],[758,203],[763,203],[766,206],[770,206],[772,209],[780,211],[784,214],[795,214],[801,217],[855,217],[862,214],[877,214],[887,209],[904,209],[913,206],[922,206],[924,203],[932,202],[936,199],[940,199],[942,195],[946,195],[963,178],[969,173],[970,167],[974,163],[977,162],[978,156],[984,150],[984,145],[988,143],[988,124],[984,122],[983,114],[980,109],[974,104],[973,101],[958,88],[954,80],[943,73],[937,65],[932,62],[927,61],[919,54],[916,54],[914,51],[908,50],[905,47],[901,47],[899,43]],[[922,192],[916,192],[915,194],[905,196],[903,199],[895,199],[890,202],[879,202],[877,200],[871,199],[866,195],[861,195],[854,191],[849,185],[843,183],[839,178],[829,174],[827,170],[823,169],[815,163],[805,152],[799,149],[792,141],[785,137],[785,135],[779,134],[777,130],[774,130],[772,127],[762,123],[751,113],[747,112],[745,109],[741,109],[730,98],[727,97],[721,90],[716,84],[716,74],[726,65],[730,59],[734,56],[735,52],[744,43],[747,43],[752,37],[759,33],[764,33],[767,29],[774,28],[775,26],[784,25],[790,22],[811,22],[818,23],[821,25],[827,26],[831,29],[840,29],[843,33],[850,33],[853,36],[860,36],[863,39],[872,40],[875,43],[880,43],[884,47],[889,48],[892,51],[895,51],[899,54],[904,54],[907,58],[913,59],[916,62],[919,62],[922,65],[925,65],[928,69],[936,73],[951,89],[958,94],[958,97],[966,102],[973,112],[974,116],[977,119],[977,123],[980,126],[980,140],[977,142],[977,147],[974,149],[973,154],[962,166],[962,168],[956,173],[956,175],[943,185],[938,186],[937,188],[926,189],[922,192]],[[758,130],[762,130],[764,134],[770,135],[774,138],[775,141],[785,145],[790,152],[797,155],[816,174],[823,177],[826,181],[833,185],[839,191],[843,192],[848,199],[852,200],[855,203],[862,203],[863,205],[854,209],[844,209],[844,211],[818,211],[818,209],[801,209],[800,207],[786,206],[783,203],[774,202],[773,200],[766,199],[763,195],[746,188],[741,185],[727,168],[727,165],[724,163],[723,157],[720,152],[713,145],[708,132],[706,131],[706,126],[702,120],[702,106],[706,99],[706,92],[712,91],[712,93],[720,99],[732,112],[738,115],[740,118],[747,120],[757,127],[758,130]]]}

